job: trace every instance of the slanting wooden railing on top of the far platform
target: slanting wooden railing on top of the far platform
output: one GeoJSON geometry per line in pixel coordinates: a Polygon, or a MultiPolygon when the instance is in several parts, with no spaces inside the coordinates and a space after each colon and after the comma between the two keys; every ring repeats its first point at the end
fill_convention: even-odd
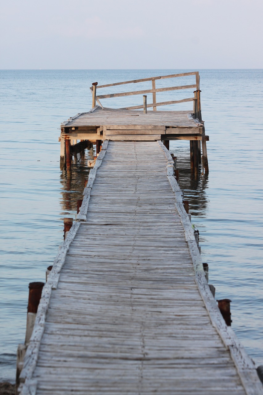
{"type": "MultiPolygon", "coordinates": [[[[149,77],[149,78],[141,78],[135,79],[132,81],[124,81],[124,82],[117,82],[114,84],[107,84],[107,85],[98,85],[98,83],[93,83],[92,87],[90,87],[92,91],[92,107],[95,107],[96,102],[103,108],[100,100],[107,99],[107,98],[116,98],[121,96],[131,96],[131,95],[145,95],[148,93],[152,93],[152,103],[147,103],[147,107],[153,107],[153,111],[156,111],[156,107],[160,105],[168,105],[168,104],[176,104],[176,103],[184,103],[184,102],[192,102],[193,101],[193,113],[195,114],[196,118],[201,119],[201,103],[200,103],[200,76],[198,71],[192,71],[190,73],[180,73],[180,74],[170,74],[170,75],[162,75],[160,77],[149,77]],[[195,84],[193,85],[181,85],[176,87],[167,87],[167,88],[156,88],[155,81],[158,79],[165,79],[165,78],[175,78],[175,77],[185,77],[188,75],[195,75],[195,84]],[[147,90],[135,90],[131,92],[120,92],[120,93],[111,93],[106,95],[98,95],[96,96],[96,89],[99,88],[107,88],[107,87],[115,87],[116,85],[124,85],[124,84],[131,84],[131,83],[138,83],[144,81],[152,81],[152,89],[147,90]],[[181,89],[195,89],[194,94],[195,96],[192,98],[186,98],[182,100],[170,100],[169,102],[156,102],[156,93],[158,92],[167,92],[170,90],[181,90],[181,89]]],[[[143,108],[143,104],[135,105],[132,107],[123,107],[121,109],[126,110],[135,110],[143,108]]]]}

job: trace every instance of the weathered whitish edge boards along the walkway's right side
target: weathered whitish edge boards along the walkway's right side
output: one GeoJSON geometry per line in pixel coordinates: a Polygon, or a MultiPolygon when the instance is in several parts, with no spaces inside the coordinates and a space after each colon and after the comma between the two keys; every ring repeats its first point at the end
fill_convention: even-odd
{"type": "MultiPolygon", "coordinates": [[[[165,153],[168,162],[169,156],[171,156],[170,152],[166,149],[161,141],[158,141],[158,144],[165,153]]],[[[203,302],[205,303],[205,307],[209,314],[212,325],[220,335],[225,345],[225,348],[227,348],[230,352],[231,358],[235,364],[246,394],[263,395],[263,386],[257,375],[254,362],[248,356],[248,354],[244,350],[244,347],[240,344],[233,329],[225,324],[224,318],[222,317],[218,305],[209,289],[207,280],[205,279],[201,256],[197,247],[197,243],[195,241],[193,228],[189,216],[186,213],[182,203],[182,193],[180,194],[177,190],[177,181],[173,176],[167,175],[167,178],[170,182],[173,192],[176,191],[175,206],[177,208],[178,214],[180,215],[182,226],[185,232],[186,242],[188,243],[190,255],[192,258],[193,267],[195,270],[195,282],[198,286],[199,293],[203,299],[203,302]]]]}

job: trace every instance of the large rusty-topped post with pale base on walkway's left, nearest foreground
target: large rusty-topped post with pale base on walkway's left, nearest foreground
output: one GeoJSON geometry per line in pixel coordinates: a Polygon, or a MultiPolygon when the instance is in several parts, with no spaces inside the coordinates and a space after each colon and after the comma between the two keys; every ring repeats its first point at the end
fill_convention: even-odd
{"type": "Polygon", "coordinates": [[[30,337],[33,332],[36,313],[38,311],[38,305],[41,298],[42,288],[45,284],[43,282],[30,282],[29,294],[28,294],[28,306],[27,306],[27,317],[26,317],[26,338],[25,344],[29,343],[30,337]]]}

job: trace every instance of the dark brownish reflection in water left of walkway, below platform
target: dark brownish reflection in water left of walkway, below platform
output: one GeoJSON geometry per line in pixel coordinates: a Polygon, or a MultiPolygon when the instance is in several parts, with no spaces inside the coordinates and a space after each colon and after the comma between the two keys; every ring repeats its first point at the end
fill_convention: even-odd
{"type": "Polygon", "coordinates": [[[71,177],[67,175],[66,170],[60,174],[61,194],[60,199],[62,213],[64,216],[75,216],[77,213],[77,200],[83,199],[84,181],[88,178],[89,169],[87,168],[88,159],[94,158],[96,149],[75,154],[71,163],[71,177]]]}

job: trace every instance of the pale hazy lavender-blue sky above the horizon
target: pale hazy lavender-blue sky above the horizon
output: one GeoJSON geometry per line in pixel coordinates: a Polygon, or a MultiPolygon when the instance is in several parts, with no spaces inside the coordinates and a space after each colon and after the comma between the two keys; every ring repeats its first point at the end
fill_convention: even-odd
{"type": "Polygon", "coordinates": [[[263,68],[262,0],[8,0],[1,69],[263,68]]]}

